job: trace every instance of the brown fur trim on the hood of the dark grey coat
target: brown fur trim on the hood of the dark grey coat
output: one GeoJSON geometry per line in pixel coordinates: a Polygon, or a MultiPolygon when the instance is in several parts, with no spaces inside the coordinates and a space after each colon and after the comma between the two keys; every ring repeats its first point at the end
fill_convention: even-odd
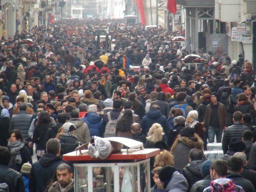
{"type": "Polygon", "coordinates": [[[184,143],[186,146],[190,148],[198,148],[203,151],[204,148],[204,142],[202,139],[198,136],[198,134],[194,134],[194,137],[188,138],[178,135],[176,138],[174,144],[172,145],[171,152],[176,148],[179,142],[184,143]]]}

